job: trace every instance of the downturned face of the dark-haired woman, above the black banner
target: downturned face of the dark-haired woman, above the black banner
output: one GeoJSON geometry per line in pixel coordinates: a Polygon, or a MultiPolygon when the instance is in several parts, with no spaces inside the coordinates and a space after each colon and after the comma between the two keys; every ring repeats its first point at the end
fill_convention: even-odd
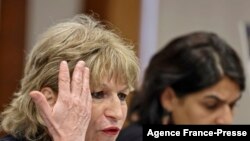
{"type": "Polygon", "coordinates": [[[241,94],[238,85],[223,78],[202,91],[176,98],[172,119],[175,124],[231,124],[233,109],[241,94]]]}

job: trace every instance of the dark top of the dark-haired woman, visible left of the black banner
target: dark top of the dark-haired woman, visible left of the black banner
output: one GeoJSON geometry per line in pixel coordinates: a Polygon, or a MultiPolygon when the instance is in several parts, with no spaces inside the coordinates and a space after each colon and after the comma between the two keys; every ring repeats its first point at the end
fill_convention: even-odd
{"type": "Polygon", "coordinates": [[[131,124],[121,130],[116,141],[142,141],[142,126],[139,124],[131,124]]]}

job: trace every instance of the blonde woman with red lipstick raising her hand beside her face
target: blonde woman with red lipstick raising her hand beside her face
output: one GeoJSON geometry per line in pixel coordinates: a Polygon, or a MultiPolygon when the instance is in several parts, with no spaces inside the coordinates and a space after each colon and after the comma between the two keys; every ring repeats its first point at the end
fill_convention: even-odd
{"type": "Polygon", "coordinates": [[[139,68],[133,46],[87,15],[49,28],[1,114],[1,141],[115,141],[139,68]]]}

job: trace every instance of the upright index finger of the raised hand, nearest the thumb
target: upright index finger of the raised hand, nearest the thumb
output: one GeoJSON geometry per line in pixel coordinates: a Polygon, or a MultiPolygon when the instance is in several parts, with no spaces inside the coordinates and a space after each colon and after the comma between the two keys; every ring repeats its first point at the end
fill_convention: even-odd
{"type": "Polygon", "coordinates": [[[70,74],[66,61],[62,61],[60,64],[58,79],[58,98],[67,97],[70,93],[70,74]]]}

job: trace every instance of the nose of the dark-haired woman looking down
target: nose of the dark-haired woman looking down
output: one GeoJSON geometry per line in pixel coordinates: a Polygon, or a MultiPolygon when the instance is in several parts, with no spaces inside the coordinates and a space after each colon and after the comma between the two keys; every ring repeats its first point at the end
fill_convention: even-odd
{"type": "Polygon", "coordinates": [[[219,111],[218,117],[216,119],[216,124],[232,124],[233,113],[230,106],[225,106],[221,111],[219,111]]]}

